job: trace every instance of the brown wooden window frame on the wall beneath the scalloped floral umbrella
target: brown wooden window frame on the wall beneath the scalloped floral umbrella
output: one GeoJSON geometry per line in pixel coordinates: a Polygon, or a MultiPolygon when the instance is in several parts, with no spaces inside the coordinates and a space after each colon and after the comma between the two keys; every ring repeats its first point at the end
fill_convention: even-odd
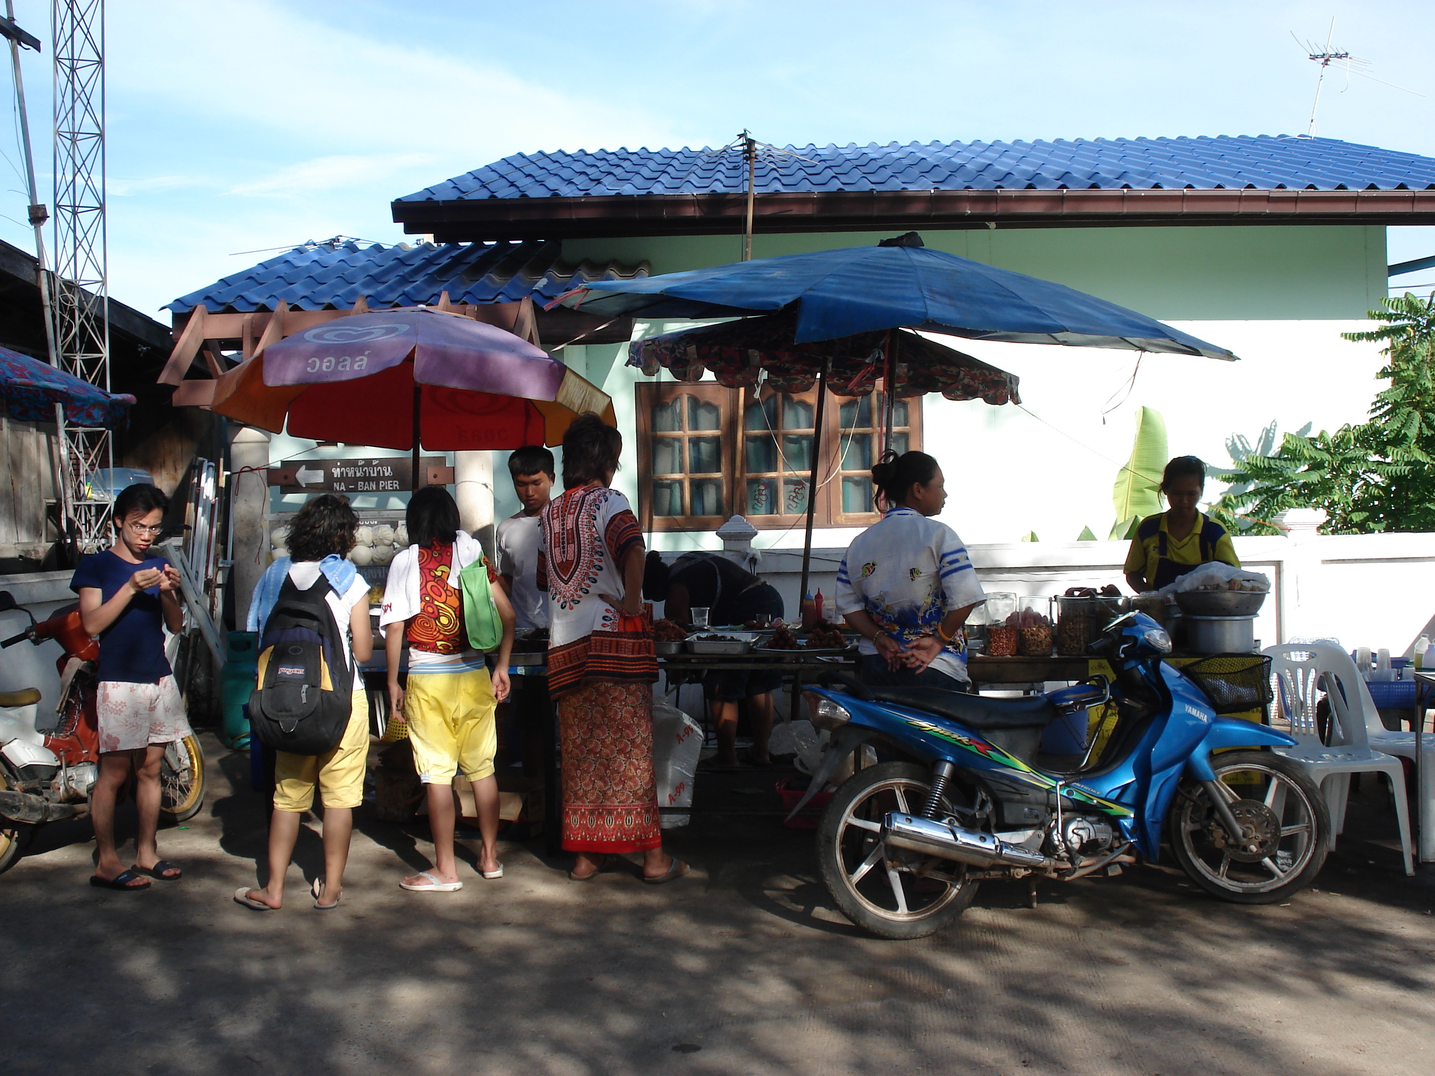
{"type": "MultiPolygon", "coordinates": [[[[772,395],[766,386],[758,390],[762,399],[768,399],[772,395]]],[[[745,515],[748,522],[756,527],[759,531],[784,531],[792,527],[801,527],[802,521],[806,518],[805,514],[798,515],[746,515],[738,511],[739,505],[746,505],[746,443],[745,435],[748,430],[743,429],[743,413],[751,397],[751,390],[746,389],[725,389],[715,382],[644,382],[636,386],[636,410],[637,410],[637,473],[639,473],[639,519],[643,524],[644,531],[650,532],[669,532],[669,531],[715,531],[722,527],[732,515],[745,515]],[[719,432],[723,439],[722,448],[722,465],[725,468],[723,479],[723,506],[726,515],[653,515],[653,488],[657,476],[653,473],[653,448],[651,442],[656,438],[663,436],[689,436],[686,430],[687,425],[687,407],[682,407],[683,426],[684,429],[673,433],[660,433],[653,430],[653,405],[669,402],[680,396],[696,396],[706,403],[716,403],[720,413],[719,432]]],[[[806,393],[789,393],[795,399],[804,400],[817,406],[817,390],[812,389],[806,393]]],[[[841,406],[851,397],[837,396],[828,392],[827,406],[822,415],[822,456],[818,466],[818,473],[828,481],[817,491],[817,515],[814,519],[814,527],[834,528],[834,527],[870,527],[877,522],[878,515],[875,511],[870,512],[844,512],[842,511],[842,479],[838,471],[839,466],[839,452],[842,446],[842,432],[839,429],[841,406]]],[[[878,413],[880,406],[877,400],[872,402],[872,419],[880,422],[878,413]]],[[[908,436],[908,448],[920,449],[923,443],[923,415],[921,415],[921,397],[916,396],[907,400],[907,416],[908,426],[905,432],[908,436]]],[[[862,428],[870,429],[870,428],[862,428]]],[[[781,430],[778,430],[781,433],[781,430]]],[[[875,446],[874,446],[875,448],[875,446]]],[[[791,473],[791,472],[786,472],[791,473]]],[[[802,475],[806,478],[806,473],[802,475]]],[[[684,498],[686,498],[684,489],[684,498]]]]}

